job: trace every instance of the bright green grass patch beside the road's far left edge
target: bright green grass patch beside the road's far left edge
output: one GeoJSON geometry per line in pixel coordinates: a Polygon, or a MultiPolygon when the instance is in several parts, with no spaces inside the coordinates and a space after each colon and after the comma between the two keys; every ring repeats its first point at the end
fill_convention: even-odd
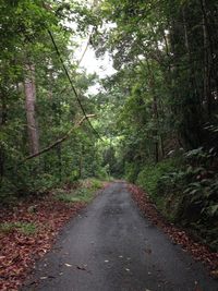
{"type": "Polygon", "coordinates": [[[55,198],[64,203],[85,202],[88,203],[93,199],[95,192],[102,186],[102,182],[96,179],[87,179],[81,182],[77,190],[66,192],[58,190],[55,198]]]}

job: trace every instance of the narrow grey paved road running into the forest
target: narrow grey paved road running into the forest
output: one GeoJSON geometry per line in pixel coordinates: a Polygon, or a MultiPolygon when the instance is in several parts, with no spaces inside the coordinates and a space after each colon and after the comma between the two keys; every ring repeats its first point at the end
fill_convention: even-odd
{"type": "Polygon", "coordinates": [[[63,229],[23,290],[217,291],[218,282],[113,183],[63,229]]]}

